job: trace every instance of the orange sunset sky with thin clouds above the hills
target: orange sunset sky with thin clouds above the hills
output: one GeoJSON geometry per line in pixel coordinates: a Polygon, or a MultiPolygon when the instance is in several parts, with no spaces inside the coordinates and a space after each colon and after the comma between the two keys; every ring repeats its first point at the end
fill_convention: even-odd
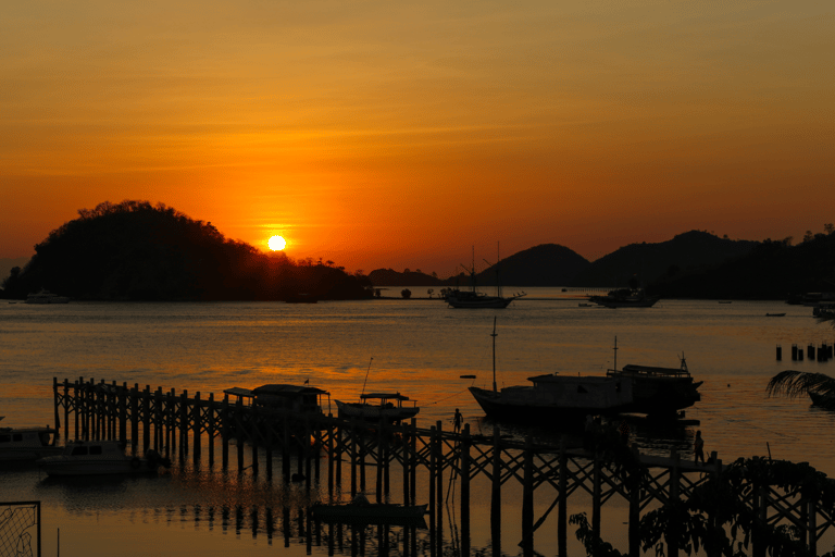
{"type": "Polygon", "coordinates": [[[102,201],[349,271],[835,221],[835,4],[7,2],[0,258],[102,201]]]}

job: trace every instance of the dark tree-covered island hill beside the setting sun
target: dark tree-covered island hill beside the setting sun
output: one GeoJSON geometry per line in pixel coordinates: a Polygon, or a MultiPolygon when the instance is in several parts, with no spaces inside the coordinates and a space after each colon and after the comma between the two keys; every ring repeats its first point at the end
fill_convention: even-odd
{"type": "Polygon", "coordinates": [[[3,281],[7,298],[41,288],[90,300],[370,298],[371,283],[341,268],[299,264],[226,239],[210,222],[162,203],[104,202],[52,231],[3,281]]]}

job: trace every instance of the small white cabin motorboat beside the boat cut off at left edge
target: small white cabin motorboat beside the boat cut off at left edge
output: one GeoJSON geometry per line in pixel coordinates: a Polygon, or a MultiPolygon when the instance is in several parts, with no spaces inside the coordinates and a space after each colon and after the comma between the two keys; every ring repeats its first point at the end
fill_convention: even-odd
{"type": "Polygon", "coordinates": [[[148,450],[144,458],[125,454],[125,443],[119,441],[76,441],[67,443],[62,454],[36,461],[47,475],[111,475],[158,473],[160,467],[171,466],[169,458],[148,450]]]}

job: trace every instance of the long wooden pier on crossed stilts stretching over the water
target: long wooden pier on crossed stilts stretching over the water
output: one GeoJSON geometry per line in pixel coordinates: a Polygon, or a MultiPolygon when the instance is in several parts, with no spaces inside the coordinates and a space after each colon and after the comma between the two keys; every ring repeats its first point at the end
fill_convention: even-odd
{"type": "MultiPolygon", "coordinates": [[[[353,497],[374,482],[377,500],[413,504],[418,499],[418,473],[427,473],[429,529],[433,533],[437,530],[432,536],[433,555],[443,555],[445,478],[456,479],[460,486],[461,555],[470,555],[471,482],[477,478],[486,479],[491,486],[495,555],[500,555],[502,486],[508,481],[522,486],[520,545],[525,555],[534,555],[535,532],[554,508],[558,554],[568,555],[568,502],[577,491],[590,495],[590,524],[597,535],[605,504],[615,495],[628,503],[628,550],[630,555],[639,555],[641,512],[650,506],[675,506],[724,470],[715,454],[709,465],[696,466],[674,451],[658,457],[640,455],[633,447],[635,461],[643,469],[638,476],[613,469],[598,450],[566,446],[564,437],[559,446],[539,445],[529,437],[524,442],[504,440],[498,426],[491,436],[484,436],[471,434],[469,424],[456,432],[445,431],[441,422],[428,429],[418,428],[414,419],[388,424],[299,416],[245,405],[241,398],[230,401],[228,395],[215,400],[212,394],[203,398],[200,393],[189,396],[186,391],[177,394],[173,388],[152,391],[148,385],[140,388],[138,384],[117,385],[83,377],[72,382],[54,379],[53,398],[55,429],[59,435],[63,432],[64,438],[119,440],[129,443],[134,454],[153,448],[195,469],[207,462],[215,467],[220,460],[224,470],[250,470],[267,479],[273,478],[274,461],[281,457],[285,482],[303,482],[308,492],[315,482],[322,493],[327,490],[332,499],[340,493],[353,497]],[[221,447],[220,458],[215,455],[216,444],[221,447]],[[395,468],[400,470],[400,486],[391,485],[390,472],[395,468]],[[349,490],[344,490],[344,481],[350,482],[349,490]],[[546,485],[557,495],[548,511],[536,520],[534,496],[546,485]]],[[[835,512],[821,504],[820,494],[807,492],[750,485],[746,492],[750,496],[743,503],[763,524],[795,528],[811,554],[817,555],[819,540],[835,525],[835,512]]],[[[549,490],[549,496],[551,493],[549,490]]],[[[666,555],[671,557],[676,557],[680,549],[670,542],[676,540],[674,534],[668,532],[666,537],[666,555]]],[[[753,555],[765,555],[765,545],[756,534],[753,555]]]]}

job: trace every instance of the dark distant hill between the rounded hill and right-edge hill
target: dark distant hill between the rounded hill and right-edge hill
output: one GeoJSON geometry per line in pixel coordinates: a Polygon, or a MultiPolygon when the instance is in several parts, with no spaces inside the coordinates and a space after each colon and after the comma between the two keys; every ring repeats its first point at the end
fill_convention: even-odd
{"type": "Polygon", "coordinates": [[[720,238],[690,231],[658,244],[630,244],[591,263],[572,286],[627,286],[653,283],[665,276],[693,273],[746,256],[758,242],[720,238]]]}

